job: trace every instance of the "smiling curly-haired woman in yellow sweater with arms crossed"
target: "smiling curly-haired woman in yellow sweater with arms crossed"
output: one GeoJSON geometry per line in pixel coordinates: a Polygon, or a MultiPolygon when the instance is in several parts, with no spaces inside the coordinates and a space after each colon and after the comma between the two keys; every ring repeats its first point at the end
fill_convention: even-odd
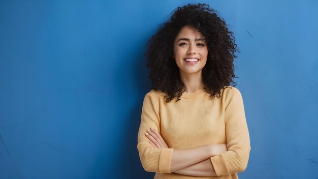
{"type": "Polygon", "coordinates": [[[238,178],[245,170],[249,134],[241,94],[230,86],[232,34],[199,4],[179,7],[150,39],[153,90],[144,98],[137,148],[154,178],[238,178]]]}

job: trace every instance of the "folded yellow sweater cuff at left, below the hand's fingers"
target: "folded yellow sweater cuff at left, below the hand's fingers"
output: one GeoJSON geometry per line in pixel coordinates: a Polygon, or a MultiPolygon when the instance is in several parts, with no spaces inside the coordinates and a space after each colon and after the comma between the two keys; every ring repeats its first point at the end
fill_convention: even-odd
{"type": "Polygon", "coordinates": [[[170,164],[172,158],[173,148],[161,148],[159,157],[159,171],[160,173],[171,173],[170,164]]]}

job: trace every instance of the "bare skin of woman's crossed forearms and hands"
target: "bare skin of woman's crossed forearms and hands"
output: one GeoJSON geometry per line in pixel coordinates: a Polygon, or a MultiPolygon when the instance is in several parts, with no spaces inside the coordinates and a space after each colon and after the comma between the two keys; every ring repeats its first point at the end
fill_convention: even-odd
{"type": "MultiPolygon", "coordinates": [[[[154,148],[169,148],[155,129],[148,129],[145,135],[154,148]]],[[[226,144],[209,144],[186,150],[174,150],[170,171],[192,176],[216,176],[210,158],[226,151],[226,144]]]]}

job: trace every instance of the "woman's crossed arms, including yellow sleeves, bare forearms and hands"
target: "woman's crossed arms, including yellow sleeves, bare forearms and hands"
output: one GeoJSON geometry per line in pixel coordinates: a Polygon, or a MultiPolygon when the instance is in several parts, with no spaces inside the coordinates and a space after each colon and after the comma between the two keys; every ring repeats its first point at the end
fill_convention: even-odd
{"type": "Polygon", "coordinates": [[[156,132],[161,125],[160,96],[154,92],[147,94],[137,144],[144,169],[193,176],[220,176],[244,171],[250,151],[244,106],[236,88],[228,91],[224,96],[227,144],[209,144],[186,150],[168,148],[160,133],[156,132]],[[148,130],[150,127],[155,130],[148,130]]]}

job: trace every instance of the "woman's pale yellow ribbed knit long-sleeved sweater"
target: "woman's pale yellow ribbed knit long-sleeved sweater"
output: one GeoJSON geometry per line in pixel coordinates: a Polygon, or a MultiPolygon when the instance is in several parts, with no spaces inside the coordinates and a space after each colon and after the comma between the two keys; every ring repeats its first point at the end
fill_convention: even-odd
{"type": "Polygon", "coordinates": [[[237,88],[221,90],[211,98],[203,89],[183,93],[181,100],[166,103],[165,94],[150,91],[144,98],[137,145],[142,166],[156,172],[154,178],[238,178],[249,157],[249,134],[243,100],[237,88]],[[154,148],[144,135],[150,127],[159,131],[169,148],[154,148]],[[174,149],[211,143],[227,143],[228,151],[211,157],[217,176],[187,176],[169,171],[174,149]]]}

